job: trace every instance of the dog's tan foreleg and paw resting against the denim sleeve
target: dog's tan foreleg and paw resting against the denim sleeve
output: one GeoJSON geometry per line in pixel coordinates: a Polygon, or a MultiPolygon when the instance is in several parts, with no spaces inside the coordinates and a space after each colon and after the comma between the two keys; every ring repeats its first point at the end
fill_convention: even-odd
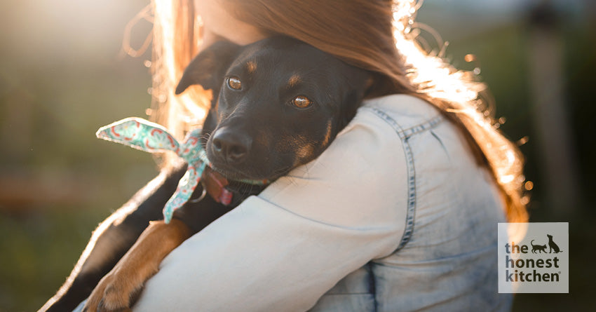
{"type": "Polygon", "coordinates": [[[133,296],[157,273],[161,260],[190,236],[189,227],[178,219],[170,224],[151,222],[114,269],[100,280],[83,311],[127,311],[133,296]]]}

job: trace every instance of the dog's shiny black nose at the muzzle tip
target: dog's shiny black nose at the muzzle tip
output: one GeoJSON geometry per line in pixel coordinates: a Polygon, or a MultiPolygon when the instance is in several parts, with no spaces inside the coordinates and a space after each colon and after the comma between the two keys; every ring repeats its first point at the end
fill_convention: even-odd
{"type": "Polygon", "coordinates": [[[219,128],[212,137],[212,150],[227,163],[241,163],[248,156],[252,139],[227,127],[219,128]]]}

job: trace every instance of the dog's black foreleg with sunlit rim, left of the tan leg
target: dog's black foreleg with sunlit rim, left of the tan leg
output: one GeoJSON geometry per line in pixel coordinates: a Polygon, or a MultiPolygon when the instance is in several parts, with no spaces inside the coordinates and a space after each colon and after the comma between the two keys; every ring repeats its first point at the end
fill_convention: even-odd
{"type": "Polygon", "coordinates": [[[141,235],[150,220],[163,218],[161,210],[174,193],[184,170],[161,175],[144,186],[128,203],[97,227],[69,278],[39,312],[72,311],[89,296],[141,235]]]}

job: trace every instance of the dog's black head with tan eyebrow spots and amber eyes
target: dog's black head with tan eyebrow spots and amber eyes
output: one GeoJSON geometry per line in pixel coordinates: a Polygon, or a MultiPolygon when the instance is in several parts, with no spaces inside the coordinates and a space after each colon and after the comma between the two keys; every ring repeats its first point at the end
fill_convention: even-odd
{"type": "Polygon", "coordinates": [[[176,93],[195,84],[213,90],[203,128],[215,170],[231,179],[276,179],[323,152],[353,118],[369,76],[287,37],[248,46],[220,41],[192,60],[176,93]]]}

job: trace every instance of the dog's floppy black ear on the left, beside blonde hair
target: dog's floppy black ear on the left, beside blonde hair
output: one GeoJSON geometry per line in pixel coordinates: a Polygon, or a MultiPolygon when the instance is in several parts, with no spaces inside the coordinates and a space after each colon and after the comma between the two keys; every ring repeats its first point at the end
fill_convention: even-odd
{"type": "Polygon", "coordinates": [[[205,90],[219,92],[224,75],[233,62],[241,46],[229,41],[217,41],[198,53],[190,62],[176,87],[176,94],[189,86],[201,85],[205,90]]]}

